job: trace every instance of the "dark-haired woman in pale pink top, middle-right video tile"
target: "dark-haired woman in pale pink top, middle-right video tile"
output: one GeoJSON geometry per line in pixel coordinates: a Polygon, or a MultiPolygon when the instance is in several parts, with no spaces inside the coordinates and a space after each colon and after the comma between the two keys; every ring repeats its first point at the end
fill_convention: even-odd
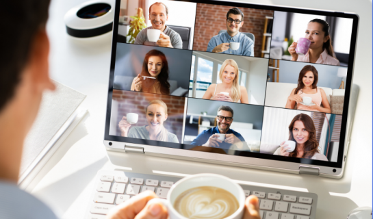
{"type": "Polygon", "coordinates": [[[322,88],[318,88],[318,70],[314,66],[307,65],[300,70],[298,86],[294,88],[287,97],[285,108],[294,109],[297,103],[297,110],[311,110],[316,112],[331,113],[331,106],[322,88]],[[309,96],[313,105],[304,105],[303,96],[309,96]],[[322,106],[321,106],[322,105],[322,106]]]}

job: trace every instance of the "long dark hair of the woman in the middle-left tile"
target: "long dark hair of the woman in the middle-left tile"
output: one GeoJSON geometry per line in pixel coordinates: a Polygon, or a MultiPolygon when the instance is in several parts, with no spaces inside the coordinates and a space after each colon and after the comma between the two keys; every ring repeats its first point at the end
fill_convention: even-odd
{"type": "Polygon", "coordinates": [[[148,62],[149,62],[149,57],[151,56],[158,56],[162,60],[162,70],[161,73],[159,73],[157,80],[159,81],[161,85],[161,93],[162,94],[170,94],[170,83],[168,83],[168,62],[166,59],[166,55],[162,53],[161,51],[157,49],[152,49],[148,53],[146,53],[144,57],[144,62],[142,63],[142,76],[150,76],[149,70],[148,70],[148,62]]]}

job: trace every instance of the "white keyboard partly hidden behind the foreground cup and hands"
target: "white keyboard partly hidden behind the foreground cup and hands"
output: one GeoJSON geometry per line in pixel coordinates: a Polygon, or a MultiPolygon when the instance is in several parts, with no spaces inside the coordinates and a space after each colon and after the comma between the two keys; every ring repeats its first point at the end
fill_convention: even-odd
{"type": "MultiPolygon", "coordinates": [[[[110,209],[132,196],[151,190],[160,198],[181,177],[166,177],[135,172],[100,170],[88,205],[86,219],[104,219],[110,209]]],[[[315,219],[317,194],[276,188],[241,185],[246,196],[259,198],[262,219],[315,219]]]]}

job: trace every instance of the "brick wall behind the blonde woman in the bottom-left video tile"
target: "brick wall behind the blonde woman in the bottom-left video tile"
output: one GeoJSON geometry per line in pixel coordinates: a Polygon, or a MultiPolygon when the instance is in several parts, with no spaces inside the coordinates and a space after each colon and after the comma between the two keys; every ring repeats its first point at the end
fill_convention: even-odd
{"type": "MultiPolygon", "coordinates": [[[[166,127],[170,133],[174,133],[179,139],[179,142],[181,142],[185,97],[113,90],[113,99],[118,101],[118,122],[122,120],[123,116],[127,113],[133,112],[139,115],[138,123],[133,124],[132,127],[148,125],[145,117],[145,108],[150,101],[154,99],[164,101],[168,107],[168,118],[166,122],[164,122],[164,127],[166,127]]],[[[118,126],[116,127],[116,133],[117,136],[120,136],[120,129],[118,126]]]]}

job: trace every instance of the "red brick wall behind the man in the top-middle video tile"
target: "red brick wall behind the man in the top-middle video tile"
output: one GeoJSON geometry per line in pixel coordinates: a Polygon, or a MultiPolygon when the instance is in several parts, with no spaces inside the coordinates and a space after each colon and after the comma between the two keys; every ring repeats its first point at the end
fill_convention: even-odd
{"type": "MultiPolygon", "coordinates": [[[[231,8],[234,7],[197,3],[193,50],[206,51],[209,40],[218,35],[220,30],[227,29],[227,12],[231,8]]],[[[240,31],[254,34],[254,55],[261,57],[264,23],[266,16],[273,16],[273,11],[251,8],[240,8],[240,10],[244,13],[244,25],[240,31]]]]}

